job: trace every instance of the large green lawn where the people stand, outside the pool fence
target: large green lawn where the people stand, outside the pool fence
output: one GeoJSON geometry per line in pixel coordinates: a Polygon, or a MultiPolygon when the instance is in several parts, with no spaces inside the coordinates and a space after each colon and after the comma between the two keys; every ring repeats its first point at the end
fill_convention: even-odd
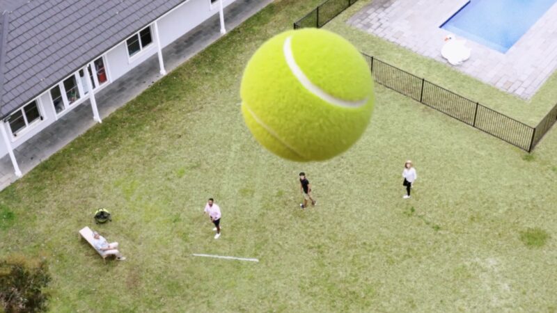
{"type": "Polygon", "coordinates": [[[555,129],[529,155],[376,86],[370,127],[336,159],[284,161],[251,137],[246,61],[319,2],[275,1],[0,193],[0,257],[47,257],[52,312],[557,310],[555,129]],[[94,225],[98,207],[111,223],[94,225]],[[86,225],[128,259],[103,264],[86,225]]]}

